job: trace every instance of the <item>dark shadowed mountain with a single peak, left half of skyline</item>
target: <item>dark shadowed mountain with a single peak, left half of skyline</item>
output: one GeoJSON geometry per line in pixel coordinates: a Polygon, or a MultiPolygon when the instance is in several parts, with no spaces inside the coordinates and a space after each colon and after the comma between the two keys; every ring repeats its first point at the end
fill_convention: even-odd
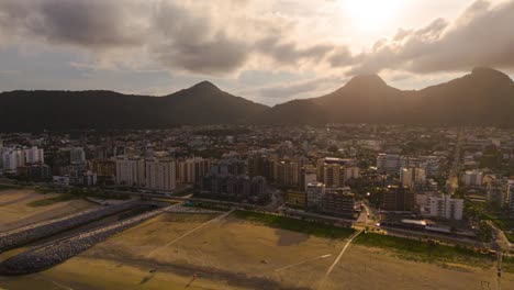
{"type": "Polygon", "coordinates": [[[0,132],[226,124],[266,109],[209,81],[165,97],[114,91],[10,91],[0,93],[0,132]]]}

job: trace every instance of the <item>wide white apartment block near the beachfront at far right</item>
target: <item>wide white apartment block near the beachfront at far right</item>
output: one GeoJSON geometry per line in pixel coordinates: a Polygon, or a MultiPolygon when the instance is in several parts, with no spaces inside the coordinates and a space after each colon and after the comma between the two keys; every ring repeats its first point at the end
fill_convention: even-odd
{"type": "Polygon", "coordinates": [[[463,200],[438,192],[416,194],[416,203],[424,216],[462,220],[463,200]]]}

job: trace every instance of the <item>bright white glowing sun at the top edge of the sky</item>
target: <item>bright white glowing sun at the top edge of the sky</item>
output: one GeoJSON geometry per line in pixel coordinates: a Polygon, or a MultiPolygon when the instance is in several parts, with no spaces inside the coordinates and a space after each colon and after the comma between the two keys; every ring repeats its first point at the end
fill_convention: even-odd
{"type": "Polygon", "coordinates": [[[391,24],[405,0],[340,0],[351,26],[375,32],[391,24]]]}

